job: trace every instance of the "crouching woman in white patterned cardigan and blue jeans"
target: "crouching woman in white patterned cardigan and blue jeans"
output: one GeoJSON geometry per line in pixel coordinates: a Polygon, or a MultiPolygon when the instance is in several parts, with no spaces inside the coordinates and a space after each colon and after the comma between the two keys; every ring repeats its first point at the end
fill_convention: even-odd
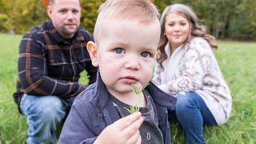
{"type": "MultiPolygon", "coordinates": [[[[214,57],[217,45],[188,6],[167,6],[160,22],[153,82],[178,99],[175,114],[186,142],[205,143],[203,126],[225,123],[232,106],[229,87],[214,57]]],[[[170,117],[171,121],[176,118],[170,117]]]]}

